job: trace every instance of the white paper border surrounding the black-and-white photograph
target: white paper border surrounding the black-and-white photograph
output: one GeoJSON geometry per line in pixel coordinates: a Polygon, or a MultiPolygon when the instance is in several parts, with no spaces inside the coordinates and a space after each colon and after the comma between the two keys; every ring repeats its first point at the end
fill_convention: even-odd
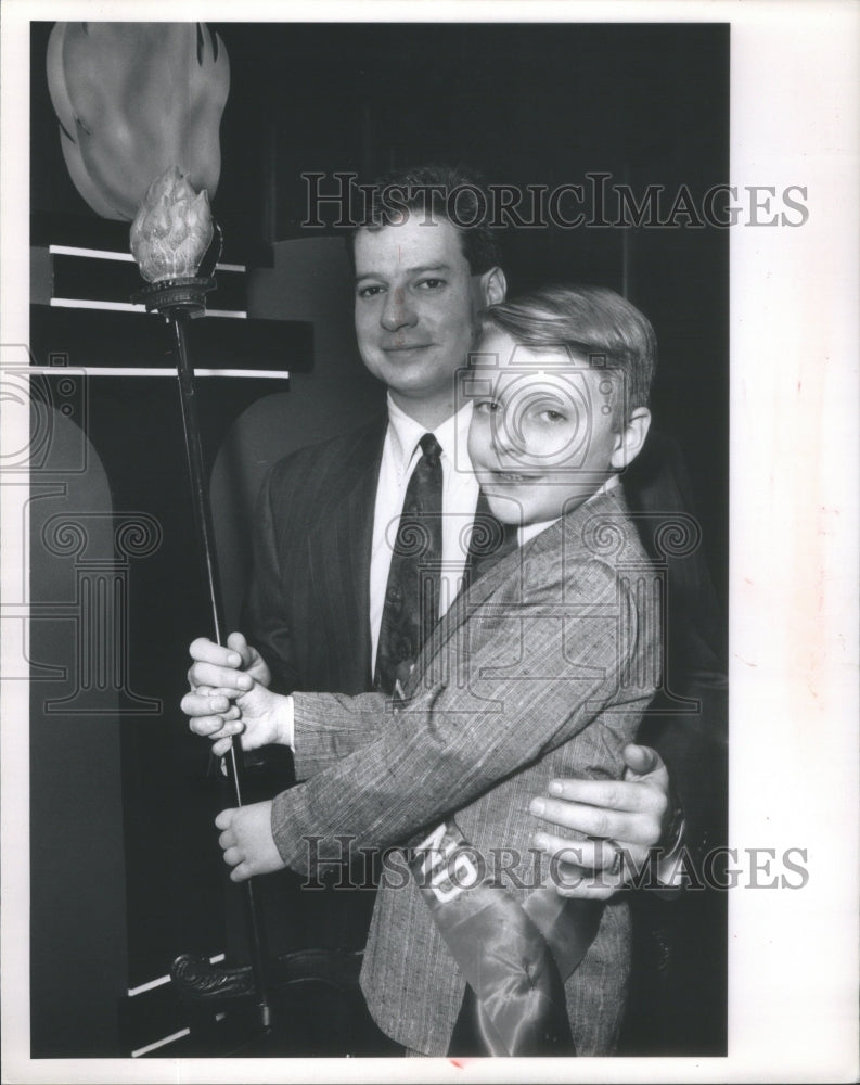
{"type": "MultiPolygon", "coordinates": [[[[28,336],[28,23],[306,21],[210,0],[4,0],[0,344],[28,336]]],[[[730,22],[739,187],[807,189],[799,228],[731,231],[730,844],[808,852],[803,890],[730,898],[727,1059],[35,1060],[29,1050],[28,715],[2,684],[2,1081],[832,1082],[858,1077],[860,5],[855,0],[318,3],[315,20],[730,22]],[[461,1060],[463,1061],[463,1060],[461,1060]]],[[[9,404],[0,405],[9,417],[9,404]]],[[[5,501],[10,487],[0,487],[5,501]]],[[[3,516],[2,598],[26,540],[3,516]]],[[[3,644],[5,652],[8,647],[3,644]]],[[[9,674],[0,658],[0,675],[9,674]]],[[[62,846],[62,833],[59,834],[62,846]]]]}

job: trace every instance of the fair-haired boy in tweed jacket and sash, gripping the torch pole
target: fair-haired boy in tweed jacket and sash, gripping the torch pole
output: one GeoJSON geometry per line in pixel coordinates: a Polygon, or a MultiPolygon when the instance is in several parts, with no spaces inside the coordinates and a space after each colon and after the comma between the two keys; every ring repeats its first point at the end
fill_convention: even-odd
{"type": "Polygon", "coordinates": [[[214,698],[222,717],[193,726],[216,753],[240,731],[245,749],[288,744],[306,781],[218,816],[234,881],[285,866],[316,876],[344,838],[355,855],[396,848],[361,973],[392,1038],[463,1054],[451,1037],[467,979],[489,1054],[563,1054],[560,1006],[579,1055],[609,1054],[628,907],[538,888],[559,867],[532,846],[529,797],[552,777],[620,778],[658,684],[654,573],[618,486],[647,433],[656,345],[637,309],[596,288],[491,306],[483,332],[464,374],[468,454],[518,549],[454,601],[394,702],[255,685],[232,711],[214,698]]]}

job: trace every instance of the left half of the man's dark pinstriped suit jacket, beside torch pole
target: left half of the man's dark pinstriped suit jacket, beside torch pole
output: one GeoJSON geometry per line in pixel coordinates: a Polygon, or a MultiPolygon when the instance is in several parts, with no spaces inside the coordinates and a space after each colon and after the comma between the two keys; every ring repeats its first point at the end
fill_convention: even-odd
{"type": "Polygon", "coordinates": [[[371,688],[370,551],[387,420],[301,448],[271,469],[254,524],[244,631],[272,688],[371,688]]]}

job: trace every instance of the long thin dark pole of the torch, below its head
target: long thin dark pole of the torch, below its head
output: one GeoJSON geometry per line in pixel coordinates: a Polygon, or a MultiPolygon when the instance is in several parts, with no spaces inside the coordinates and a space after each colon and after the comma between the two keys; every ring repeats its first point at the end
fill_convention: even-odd
{"type": "MultiPolygon", "coordinates": [[[[201,558],[204,565],[206,589],[211,608],[215,640],[223,644],[227,631],[223,610],[221,607],[220,582],[218,577],[218,558],[215,550],[215,531],[213,527],[211,505],[209,502],[206,476],[203,468],[203,448],[201,445],[200,422],[197,420],[197,403],[194,388],[194,369],[191,365],[187,343],[187,326],[190,319],[184,311],[172,311],[169,322],[174,330],[177,349],[177,375],[179,376],[179,399],[182,408],[182,429],[185,435],[185,454],[189,474],[191,476],[191,496],[194,512],[194,524],[197,532],[201,558]]],[[[224,758],[227,775],[233,790],[236,806],[242,805],[243,770],[242,748],[238,738],[231,740],[230,752],[224,758]]],[[[251,967],[254,984],[257,991],[260,1020],[265,1029],[271,1022],[271,1010],[266,994],[266,973],[264,968],[264,930],[260,923],[260,912],[254,892],[253,882],[246,881],[245,912],[248,927],[248,944],[251,948],[251,967]]]]}

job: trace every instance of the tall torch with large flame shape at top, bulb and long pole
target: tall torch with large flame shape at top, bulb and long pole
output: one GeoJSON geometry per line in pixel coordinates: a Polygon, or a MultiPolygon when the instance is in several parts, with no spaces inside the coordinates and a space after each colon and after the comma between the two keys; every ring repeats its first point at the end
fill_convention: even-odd
{"type": "MultiPolygon", "coordinates": [[[[46,68],[69,177],[100,217],[133,219],[131,248],[150,284],[133,301],[162,314],[170,326],[194,522],[214,635],[222,643],[226,629],[188,329],[206,311],[221,250],[207,192],[215,195],[221,168],[219,125],[230,89],[227,49],[205,23],[56,23],[46,68]]],[[[241,806],[238,745],[226,767],[241,806]]],[[[254,997],[268,1031],[260,910],[251,881],[244,892],[254,997]]]]}

